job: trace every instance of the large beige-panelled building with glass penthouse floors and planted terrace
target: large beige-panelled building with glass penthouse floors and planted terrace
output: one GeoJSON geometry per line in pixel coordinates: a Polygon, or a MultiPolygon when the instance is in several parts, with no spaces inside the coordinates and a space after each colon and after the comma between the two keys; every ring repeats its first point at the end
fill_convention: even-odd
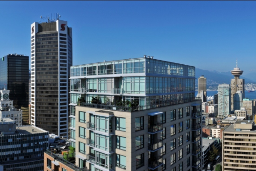
{"type": "Polygon", "coordinates": [[[135,58],[71,66],[71,145],[91,171],[201,170],[195,67],[135,58]]]}

